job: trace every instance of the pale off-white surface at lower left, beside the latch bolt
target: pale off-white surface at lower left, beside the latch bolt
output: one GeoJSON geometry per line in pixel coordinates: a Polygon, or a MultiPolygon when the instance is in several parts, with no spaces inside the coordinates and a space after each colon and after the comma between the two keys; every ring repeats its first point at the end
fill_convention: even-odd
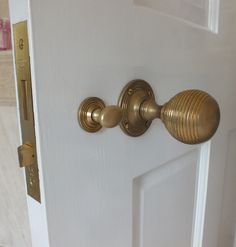
{"type": "Polygon", "coordinates": [[[0,247],[31,246],[18,136],[16,107],[0,106],[0,247]]]}

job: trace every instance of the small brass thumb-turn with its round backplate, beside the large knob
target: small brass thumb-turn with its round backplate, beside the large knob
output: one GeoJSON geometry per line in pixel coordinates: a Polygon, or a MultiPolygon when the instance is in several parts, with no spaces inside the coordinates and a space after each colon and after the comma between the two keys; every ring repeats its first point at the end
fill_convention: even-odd
{"type": "Polygon", "coordinates": [[[80,126],[87,132],[97,132],[102,127],[113,128],[122,119],[122,111],[117,106],[107,106],[103,100],[90,97],[85,99],[78,111],[80,126]]]}

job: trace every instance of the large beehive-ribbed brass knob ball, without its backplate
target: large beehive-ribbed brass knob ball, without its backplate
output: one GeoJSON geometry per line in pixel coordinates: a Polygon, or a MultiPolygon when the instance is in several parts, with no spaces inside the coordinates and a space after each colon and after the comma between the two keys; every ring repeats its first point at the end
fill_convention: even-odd
{"type": "Polygon", "coordinates": [[[160,118],[174,138],[183,143],[198,144],[215,134],[220,122],[220,109],[208,93],[187,90],[162,107],[160,118]]]}

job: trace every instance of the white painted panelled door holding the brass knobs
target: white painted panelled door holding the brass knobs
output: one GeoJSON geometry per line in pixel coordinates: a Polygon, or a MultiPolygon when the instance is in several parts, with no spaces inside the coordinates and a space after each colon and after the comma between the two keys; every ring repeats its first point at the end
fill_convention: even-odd
{"type": "Polygon", "coordinates": [[[42,198],[28,197],[33,246],[233,247],[234,221],[224,219],[234,217],[236,2],[10,6],[13,23],[29,24],[42,198]],[[86,97],[114,105],[133,79],[149,82],[160,104],[185,89],[210,93],[221,108],[216,135],[185,145],[158,120],[136,138],[119,127],[80,128],[86,97]]]}

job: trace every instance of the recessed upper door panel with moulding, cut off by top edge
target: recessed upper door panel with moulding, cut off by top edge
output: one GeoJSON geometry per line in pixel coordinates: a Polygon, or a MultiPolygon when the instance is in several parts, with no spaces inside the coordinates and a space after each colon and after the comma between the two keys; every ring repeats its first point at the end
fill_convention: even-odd
{"type": "Polygon", "coordinates": [[[214,33],[218,32],[219,0],[134,0],[134,3],[214,33]]]}

